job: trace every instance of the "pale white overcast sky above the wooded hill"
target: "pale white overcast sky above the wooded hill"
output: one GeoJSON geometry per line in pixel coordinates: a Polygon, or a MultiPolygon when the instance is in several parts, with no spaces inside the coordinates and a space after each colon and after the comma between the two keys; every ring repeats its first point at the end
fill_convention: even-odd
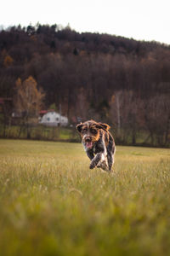
{"type": "Polygon", "coordinates": [[[4,0],[0,25],[57,24],[170,44],[170,0],[4,0]]]}

